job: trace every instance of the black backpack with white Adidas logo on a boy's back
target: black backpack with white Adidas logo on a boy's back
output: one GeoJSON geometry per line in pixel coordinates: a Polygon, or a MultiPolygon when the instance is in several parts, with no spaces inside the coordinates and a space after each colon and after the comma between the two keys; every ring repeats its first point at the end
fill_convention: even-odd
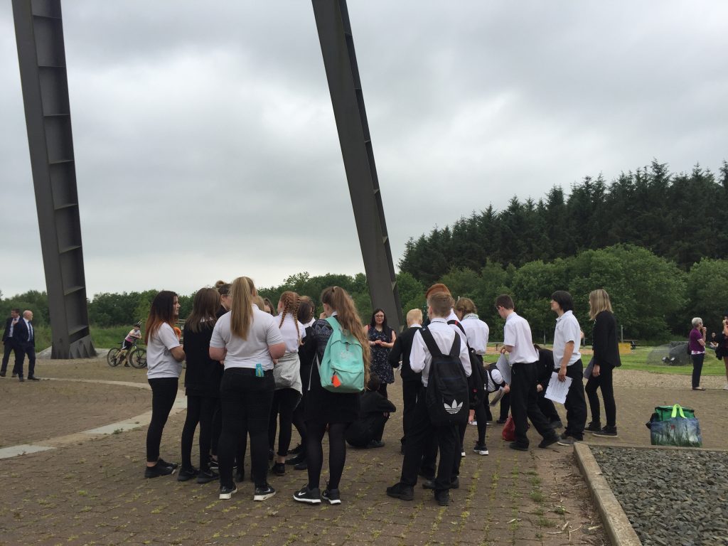
{"type": "Polygon", "coordinates": [[[425,395],[430,422],[435,427],[467,423],[469,387],[460,362],[460,336],[455,334],[450,354],[443,355],[427,327],[420,333],[432,355],[425,395]]]}

